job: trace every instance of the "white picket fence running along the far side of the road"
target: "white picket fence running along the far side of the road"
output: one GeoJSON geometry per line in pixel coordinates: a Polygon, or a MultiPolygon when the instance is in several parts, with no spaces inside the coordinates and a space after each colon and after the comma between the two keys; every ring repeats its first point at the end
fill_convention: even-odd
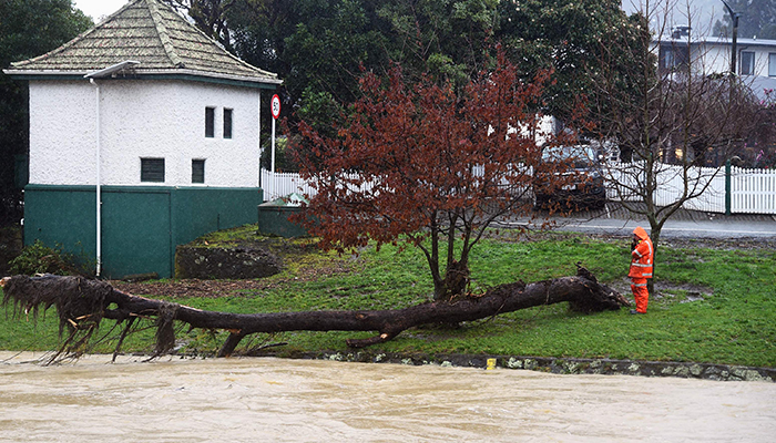
{"type": "MultiPolygon", "coordinates": [[[[607,164],[607,197],[612,200],[635,199],[629,192],[636,185],[639,165],[632,163],[607,164]],[[620,189],[615,183],[621,184],[620,189]]],[[[725,167],[692,168],[687,171],[687,183],[695,184],[700,196],[685,202],[684,208],[708,213],[725,213],[725,167]]],[[[684,169],[675,165],[660,165],[655,204],[670,205],[676,202],[684,190],[684,169]]],[[[298,174],[270,173],[262,169],[264,199],[273,200],[292,193],[315,195],[316,192],[298,174]]],[[[733,214],[776,214],[776,169],[746,169],[731,167],[731,213],[733,214]]]]}

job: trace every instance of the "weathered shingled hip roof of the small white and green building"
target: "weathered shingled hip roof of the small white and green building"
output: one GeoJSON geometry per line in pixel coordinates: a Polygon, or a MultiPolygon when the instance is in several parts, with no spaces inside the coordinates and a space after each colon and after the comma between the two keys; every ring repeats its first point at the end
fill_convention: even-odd
{"type": "Polygon", "coordinates": [[[133,74],[210,78],[272,85],[277,74],[253,66],[207,38],[157,0],[132,0],[96,27],[55,50],[11,63],[23,78],[83,76],[132,60],[133,74]]]}

